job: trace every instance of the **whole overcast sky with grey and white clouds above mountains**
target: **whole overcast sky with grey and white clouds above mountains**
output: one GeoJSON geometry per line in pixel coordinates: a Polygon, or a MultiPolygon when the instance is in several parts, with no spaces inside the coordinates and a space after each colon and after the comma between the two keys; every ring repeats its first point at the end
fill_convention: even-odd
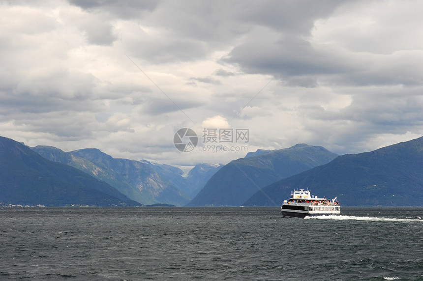
{"type": "Polygon", "coordinates": [[[416,139],[422,10],[417,0],[0,0],[0,136],[175,165],[416,139]],[[174,142],[195,139],[186,132],[197,144],[181,152],[174,142]]]}

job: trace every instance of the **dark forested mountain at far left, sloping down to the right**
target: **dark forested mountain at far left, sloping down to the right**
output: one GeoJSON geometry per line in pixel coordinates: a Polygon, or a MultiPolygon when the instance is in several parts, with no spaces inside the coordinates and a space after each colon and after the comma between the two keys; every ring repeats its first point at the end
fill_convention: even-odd
{"type": "Polygon", "coordinates": [[[0,202],[46,206],[139,205],[109,184],[78,169],[49,161],[4,137],[0,137],[0,202]]]}

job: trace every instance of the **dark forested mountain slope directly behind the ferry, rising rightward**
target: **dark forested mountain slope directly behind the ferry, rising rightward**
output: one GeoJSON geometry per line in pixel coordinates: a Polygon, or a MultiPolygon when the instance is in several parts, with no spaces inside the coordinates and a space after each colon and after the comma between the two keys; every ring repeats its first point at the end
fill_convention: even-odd
{"type": "Polygon", "coordinates": [[[280,205],[294,189],[343,206],[423,206],[423,137],[332,162],[264,187],[244,204],[280,205]]]}

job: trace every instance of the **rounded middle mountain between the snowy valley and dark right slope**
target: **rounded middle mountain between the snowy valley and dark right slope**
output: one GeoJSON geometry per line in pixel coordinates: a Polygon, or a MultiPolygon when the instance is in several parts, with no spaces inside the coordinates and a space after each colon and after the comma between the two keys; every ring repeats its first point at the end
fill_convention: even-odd
{"type": "Polygon", "coordinates": [[[321,146],[307,144],[257,154],[225,165],[187,206],[240,206],[260,188],[338,156],[321,146]]]}

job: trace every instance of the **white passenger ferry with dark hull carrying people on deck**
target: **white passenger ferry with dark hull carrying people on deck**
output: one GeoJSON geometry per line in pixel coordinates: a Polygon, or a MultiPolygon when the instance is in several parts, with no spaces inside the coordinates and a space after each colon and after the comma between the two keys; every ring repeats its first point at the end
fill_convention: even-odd
{"type": "Polygon", "coordinates": [[[336,197],[332,200],[310,196],[310,191],[294,190],[291,198],[284,200],[280,208],[283,217],[304,218],[306,216],[339,216],[341,214],[336,197]]]}

